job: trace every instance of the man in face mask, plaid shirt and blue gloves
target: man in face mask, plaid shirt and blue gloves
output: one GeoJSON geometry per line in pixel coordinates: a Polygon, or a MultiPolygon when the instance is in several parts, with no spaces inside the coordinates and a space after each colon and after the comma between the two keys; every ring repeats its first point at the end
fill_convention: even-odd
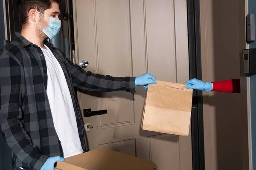
{"type": "Polygon", "coordinates": [[[45,41],[61,27],[58,0],[19,0],[17,7],[21,34],[0,50],[0,128],[15,168],[54,170],[57,161],[87,150],[73,86],[134,93],[135,86],[147,88],[156,78],[84,71],[45,41]]]}

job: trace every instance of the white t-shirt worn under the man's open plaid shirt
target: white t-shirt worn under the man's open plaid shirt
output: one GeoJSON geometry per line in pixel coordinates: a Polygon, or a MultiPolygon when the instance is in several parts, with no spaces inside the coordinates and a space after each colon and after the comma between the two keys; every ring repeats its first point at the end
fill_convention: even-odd
{"type": "Polygon", "coordinates": [[[83,153],[83,149],[67,80],[58,60],[46,45],[45,47],[46,49],[41,49],[47,65],[47,96],[64,158],[67,158],[83,153]]]}

